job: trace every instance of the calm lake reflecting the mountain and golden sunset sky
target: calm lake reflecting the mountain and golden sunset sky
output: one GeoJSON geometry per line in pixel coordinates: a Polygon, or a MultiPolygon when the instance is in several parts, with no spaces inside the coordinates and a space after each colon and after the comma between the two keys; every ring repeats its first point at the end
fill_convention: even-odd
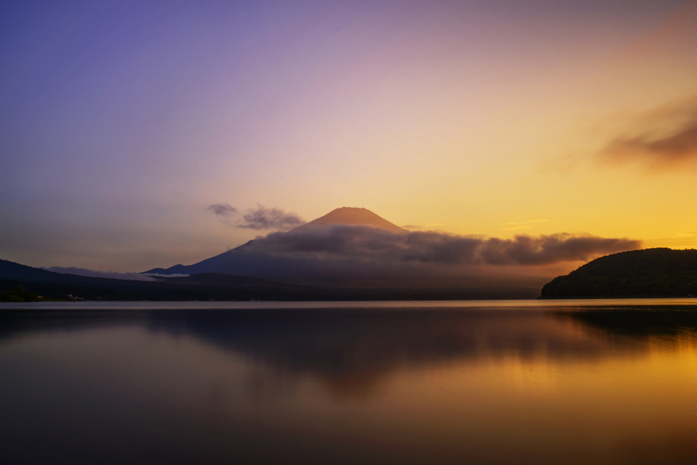
{"type": "Polygon", "coordinates": [[[0,306],[2,464],[697,463],[696,398],[697,300],[0,306]]]}

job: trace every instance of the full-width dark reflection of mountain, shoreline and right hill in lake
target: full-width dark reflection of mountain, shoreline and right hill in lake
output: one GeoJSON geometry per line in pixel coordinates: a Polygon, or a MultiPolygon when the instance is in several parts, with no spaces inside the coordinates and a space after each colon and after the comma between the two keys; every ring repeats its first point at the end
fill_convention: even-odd
{"type": "Polygon", "coordinates": [[[365,395],[405,366],[464,359],[595,359],[644,353],[651,337],[670,344],[697,335],[697,312],[527,310],[197,310],[0,313],[11,337],[96,326],[144,326],[189,335],[336,395],[365,395]]]}

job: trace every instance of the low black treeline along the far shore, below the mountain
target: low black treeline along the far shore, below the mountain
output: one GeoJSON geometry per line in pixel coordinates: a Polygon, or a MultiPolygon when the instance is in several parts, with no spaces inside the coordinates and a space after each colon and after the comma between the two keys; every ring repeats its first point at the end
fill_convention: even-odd
{"type": "Polygon", "coordinates": [[[53,273],[0,260],[0,292],[22,285],[43,298],[84,300],[472,300],[535,298],[532,287],[346,289],[286,284],[252,277],[201,273],[155,281],[53,273]]]}

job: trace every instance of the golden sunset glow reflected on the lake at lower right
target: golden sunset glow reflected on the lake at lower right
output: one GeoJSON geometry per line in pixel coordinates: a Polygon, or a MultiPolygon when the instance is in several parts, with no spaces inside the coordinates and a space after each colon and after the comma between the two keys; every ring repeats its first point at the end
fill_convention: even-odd
{"type": "Polygon", "coordinates": [[[402,372],[375,404],[413,425],[424,455],[515,462],[515,451],[546,463],[669,463],[696,457],[697,445],[684,441],[697,434],[696,389],[697,351],[686,337],[617,357],[541,353],[425,367],[402,372]]]}

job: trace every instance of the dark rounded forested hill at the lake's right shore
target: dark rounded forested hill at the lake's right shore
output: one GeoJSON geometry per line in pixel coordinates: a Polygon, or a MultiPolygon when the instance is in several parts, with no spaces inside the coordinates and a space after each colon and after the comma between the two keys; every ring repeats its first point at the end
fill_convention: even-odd
{"type": "Polygon", "coordinates": [[[601,257],[542,287],[540,298],[697,296],[697,250],[655,248],[601,257]]]}

